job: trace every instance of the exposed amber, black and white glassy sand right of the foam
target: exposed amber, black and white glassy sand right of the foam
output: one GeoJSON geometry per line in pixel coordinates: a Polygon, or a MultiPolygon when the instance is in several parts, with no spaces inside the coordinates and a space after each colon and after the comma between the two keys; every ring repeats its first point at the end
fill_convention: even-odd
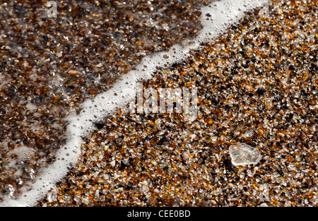
{"type": "Polygon", "coordinates": [[[198,116],[117,114],[39,206],[317,206],[317,2],[274,1],[144,88],[197,88],[198,116]],[[164,78],[163,76],[167,76],[164,78]],[[257,165],[230,145],[257,148],[257,165]]]}

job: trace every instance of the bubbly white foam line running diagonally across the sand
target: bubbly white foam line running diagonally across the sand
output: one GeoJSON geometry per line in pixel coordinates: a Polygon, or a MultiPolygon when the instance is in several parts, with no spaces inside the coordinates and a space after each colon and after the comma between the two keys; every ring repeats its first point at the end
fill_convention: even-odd
{"type": "Polygon", "coordinates": [[[264,6],[267,0],[223,0],[216,1],[201,8],[201,23],[204,28],[194,41],[187,40],[182,45],[174,45],[169,52],[160,52],[146,56],[135,70],[129,71],[122,79],[107,90],[97,95],[94,100],[83,102],[83,111],[79,116],[68,117],[70,124],[66,129],[69,141],[61,147],[55,157],[56,160],[48,167],[42,169],[35,181],[21,189],[23,194],[17,198],[6,198],[0,203],[1,206],[34,206],[49,191],[54,189],[57,181],[63,179],[69,172],[70,164],[75,165],[81,155],[81,143],[83,137],[93,131],[93,122],[105,119],[108,114],[114,112],[117,107],[121,107],[136,94],[137,80],[151,78],[157,66],[169,66],[177,61],[182,61],[189,56],[189,51],[198,49],[201,42],[211,41],[212,38],[229,28],[230,25],[244,16],[245,11],[264,6]],[[209,13],[211,16],[207,17],[209,13]],[[209,18],[209,20],[206,20],[209,18]],[[168,58],[163,58],[167,55],[168,58]],[[67,154],[68,153],[68,154],[67,154]],[[61,160],[64,158],[64,160],[61,160]]]}

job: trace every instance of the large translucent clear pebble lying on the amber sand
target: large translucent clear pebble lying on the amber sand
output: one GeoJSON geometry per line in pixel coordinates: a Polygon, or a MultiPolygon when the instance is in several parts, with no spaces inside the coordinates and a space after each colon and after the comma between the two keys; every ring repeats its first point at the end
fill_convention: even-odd
{"type": "Polygon", "coordinates": [[[230,145],[229,152],[232,164],[235,166],[256,165],[261,160],[259,150],[246,143],[230,145]]]}

